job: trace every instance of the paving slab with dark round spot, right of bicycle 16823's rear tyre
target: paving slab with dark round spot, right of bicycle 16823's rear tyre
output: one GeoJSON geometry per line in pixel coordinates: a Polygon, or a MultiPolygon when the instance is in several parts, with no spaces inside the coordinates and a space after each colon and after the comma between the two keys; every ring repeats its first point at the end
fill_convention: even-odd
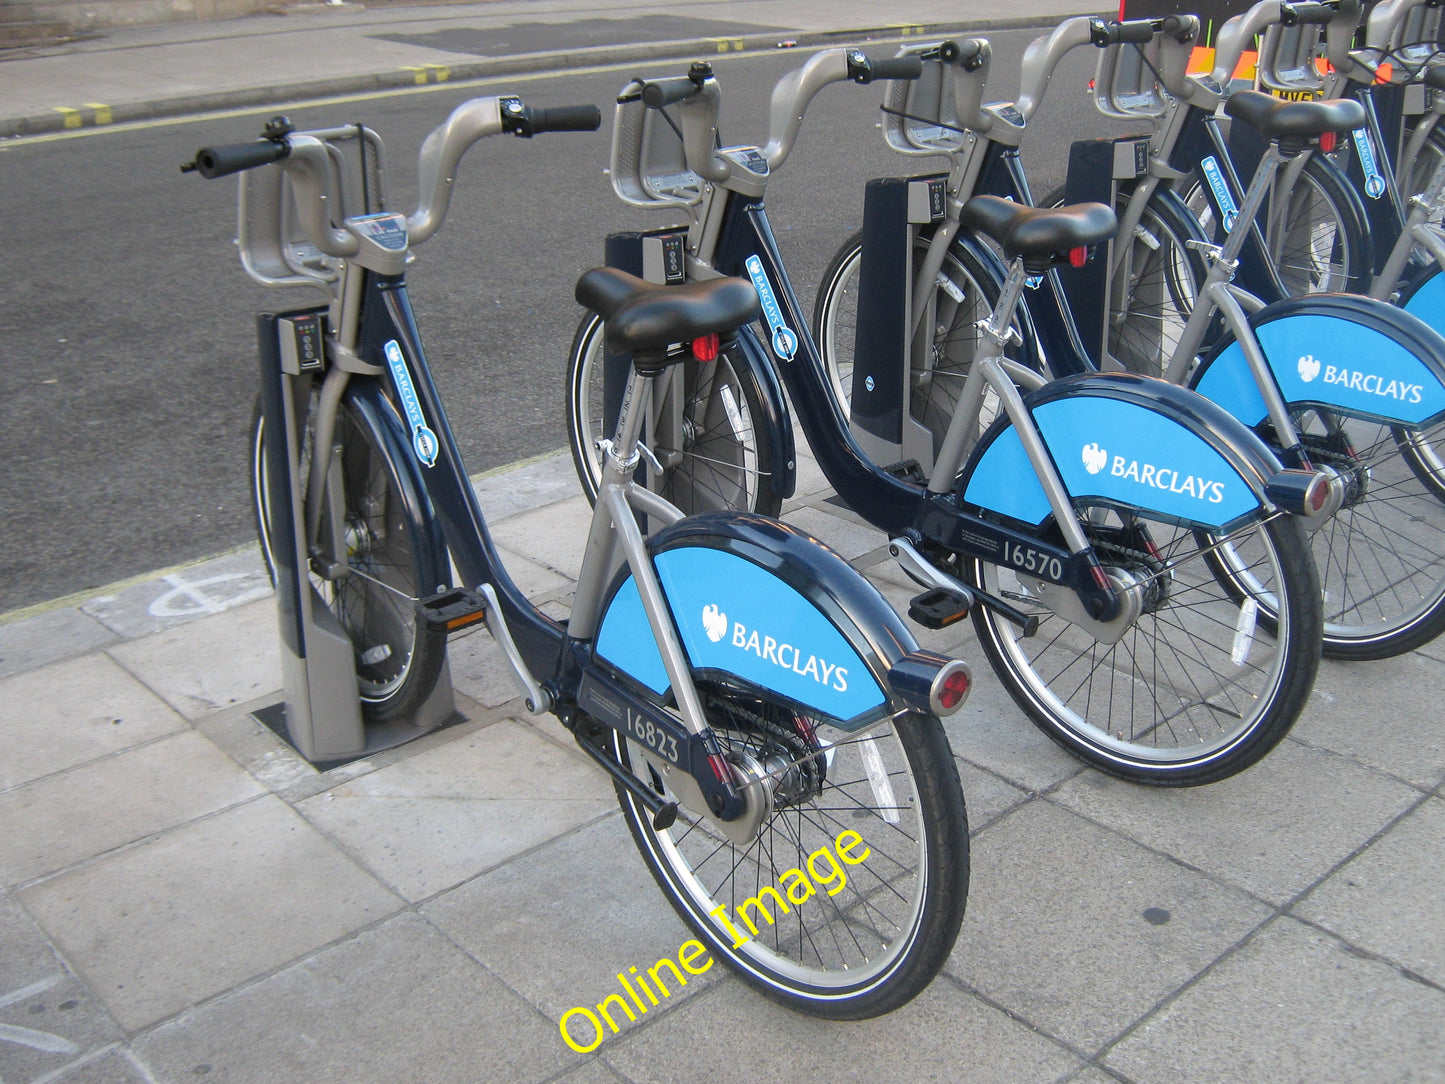
{"type": "Polygon", "coordinates": [[[1270,915],[1068,809],[1030,802],[974,840],[968,918],[946,970],[1094,1054],[1270,915]]]}

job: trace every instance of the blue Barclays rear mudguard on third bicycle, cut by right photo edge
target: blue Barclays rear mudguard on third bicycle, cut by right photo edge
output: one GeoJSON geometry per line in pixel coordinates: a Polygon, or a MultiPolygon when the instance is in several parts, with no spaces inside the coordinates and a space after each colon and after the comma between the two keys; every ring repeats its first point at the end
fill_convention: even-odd
{"type": "MultiPolygon", "coordinates": [[[[1383,301],[1311,293],[1250,317],[1270,373],[1290,406],[1423,426],[1445,413],[1445,338],[1383,301]]],[[[1248,426],[1264,397],[1233,338],[1199,364],[1191,386],[1248,426]]]]}

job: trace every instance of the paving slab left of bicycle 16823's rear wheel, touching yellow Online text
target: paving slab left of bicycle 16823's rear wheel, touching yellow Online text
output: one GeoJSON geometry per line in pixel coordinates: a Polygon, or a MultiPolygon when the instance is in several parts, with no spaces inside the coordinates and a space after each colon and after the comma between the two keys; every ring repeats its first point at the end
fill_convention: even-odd
{"type": "MultiPolygon", "coordinates": [[[[540,1007],[553,1022],[555,1042],[562,1042],[556,1025],[565,1012],[618,993],[618,973],[675,960],[694,937],[657,892],[621,814],[438,896],[422,913],[540,1007]]],[[[659,976],[665,984],[672,978],[666,967],[659,976]]],[[[721,965],[682,976],[685,984],[670,983],[649,1016],[724,977],[721,965]]]]}

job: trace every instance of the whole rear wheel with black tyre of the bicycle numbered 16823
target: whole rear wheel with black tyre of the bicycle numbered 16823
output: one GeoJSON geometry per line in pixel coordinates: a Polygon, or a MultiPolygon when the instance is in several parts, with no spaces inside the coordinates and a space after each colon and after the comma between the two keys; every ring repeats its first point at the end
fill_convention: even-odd
{"type": "MultiPolygon", "coordinates": [[[[659,831],[639,799],[618,786],[633,840],[663,895],[714,957],[790,1009],[857,1020],[905,1005],[946,961],[968,896],[968,821],[942,726],[909,713],[848,734],[756,692],[720,685],[702,691],[724,756],[772,756],[766,730],[788,728],[811,733],[812,747],[827,750],[828,766],[811,798],[775,808],[746,846],[685,808],[659,831]],[[847,883],[835,895],[818,886],[816,898],[798,900],[788,886],[802,885],[788,872],[806,869],[818,880],[815,856],[850,830],[863,837],[868,860],[831,863],[844,869],[847,883]],[[751,911],[744,925],[738,905],[764,899],[762,889],[773,886],[792,900],[790,913],[773,899],[767,913],[776,924],[751,911]],[[718,906],[728,908],[722,913],[736,935],[717,924],[718,906]]],[[[634,763],[637,746],[617,736],[614,747],[623,765],[634,763]]],[[[656,772],[649,773],[659,795],[668,795],[656,772]]]]}

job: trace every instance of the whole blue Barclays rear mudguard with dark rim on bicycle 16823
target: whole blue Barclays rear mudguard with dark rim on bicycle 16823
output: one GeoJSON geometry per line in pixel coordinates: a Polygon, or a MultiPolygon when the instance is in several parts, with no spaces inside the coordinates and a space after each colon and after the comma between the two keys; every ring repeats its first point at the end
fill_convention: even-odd
{"type": "MultiPolygon", "coordinates": [[[[796,528],[714,512],[647,541],[694,675],[737,678],[855,730],[902,708],[887,674],[918,645],[847,561],[796,528]]],[[[668,674],[631,575],[614,585],[595,656],[662,702],[668,674]]]]}

